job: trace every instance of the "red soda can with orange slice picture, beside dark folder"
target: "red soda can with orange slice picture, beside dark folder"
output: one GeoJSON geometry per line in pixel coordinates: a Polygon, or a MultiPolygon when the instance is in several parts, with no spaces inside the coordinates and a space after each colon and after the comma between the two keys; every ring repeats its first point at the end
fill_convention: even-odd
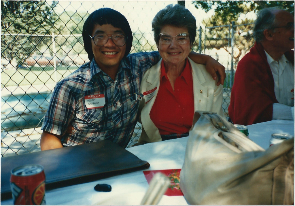
{"type": "Polygon", "coordinates": [[[14,205],[46,205],[41,165],[23,165],[11,170],[10,186],[14,205]]]}

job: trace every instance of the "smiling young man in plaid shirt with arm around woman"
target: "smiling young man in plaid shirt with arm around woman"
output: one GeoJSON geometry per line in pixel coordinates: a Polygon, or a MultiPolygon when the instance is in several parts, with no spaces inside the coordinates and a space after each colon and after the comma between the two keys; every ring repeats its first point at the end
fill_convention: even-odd
{"type": "MultiPolygon", "coordinates": [[[[137,122],[143,73],[160,60],[158,52],[129,54],[129,23],[113,9],[90,14],[82,36],[90,62],[57,83],[42,125],[41,150],[99,140],[125,148],[137,122]],[[73,125],[72,133],[67,133],[68,125],[73,125]]],[[[219,71],[223,83],[222,65],[207,55],[192,58],[206,63],[212,76],[219,71]]]]}

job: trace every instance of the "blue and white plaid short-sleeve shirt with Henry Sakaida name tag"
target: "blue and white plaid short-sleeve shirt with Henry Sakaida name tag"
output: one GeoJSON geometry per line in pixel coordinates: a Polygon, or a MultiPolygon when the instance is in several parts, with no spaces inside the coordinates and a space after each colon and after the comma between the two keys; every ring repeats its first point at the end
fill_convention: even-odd
{"type": "Polygon", "coordinates": [[[65,146],[111,140],[125,148],[136,125],[143,73],[159,59],[158,52],[130,54],[115,81],[94,59],[82,65],[55,86],[41,129],[62,135],[65,146]]]}

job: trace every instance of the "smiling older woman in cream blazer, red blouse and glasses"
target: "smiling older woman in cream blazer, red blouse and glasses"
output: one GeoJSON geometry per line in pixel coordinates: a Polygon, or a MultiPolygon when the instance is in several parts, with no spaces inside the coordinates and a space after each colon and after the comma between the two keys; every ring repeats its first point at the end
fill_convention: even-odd
{"type": "Polygon", "coordinates": [[[222,115],[222,85],[188,58],[196,37],[194,16],[168,5],[156,14],[152,28],[162,59],[142,79],[142,133],[136,145],[188,136],[196,110],[222,115]]]}

